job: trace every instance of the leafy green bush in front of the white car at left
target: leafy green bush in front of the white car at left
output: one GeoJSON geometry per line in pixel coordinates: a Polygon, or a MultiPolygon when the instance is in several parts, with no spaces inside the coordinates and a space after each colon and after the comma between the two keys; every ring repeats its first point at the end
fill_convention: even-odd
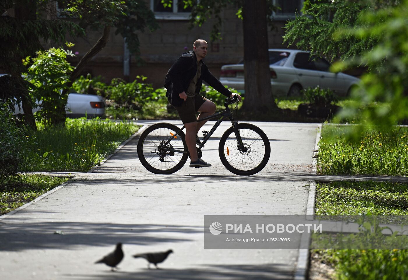
{"type": "Polygon", "coordinates": [[[42,101],[38,116],[47,126],[65,120],[68,95],[62,94],[62,90],[68,88],[69,74],[73,70],[67,56],[73,56],[72,51],[51,48],[38,51],[36,58],[27,57],[24,60],[25,65],[31,64],[25,80],[34,86],[30,90],[33,98],[42,101]]]}

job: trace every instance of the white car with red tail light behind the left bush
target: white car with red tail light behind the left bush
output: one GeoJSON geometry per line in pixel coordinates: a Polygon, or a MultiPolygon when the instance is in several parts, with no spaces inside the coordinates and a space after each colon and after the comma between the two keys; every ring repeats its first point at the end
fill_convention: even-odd
{"type": "MultiPolygon", "coordinates": [[[[40,102],[36,102],[41,104],[40,102]]],[[[40,110],[40,107],[33,108],[33,113],[40,110]]],[[[102,96],[92,94],[69,93],[67,105],[65,106],[67,118],[80,117],[104,117],[105,102],[102,96]]],[[[18,109],[18,105],[14,106],[14,114],[23,114],[23,110],[18,109]]]]}

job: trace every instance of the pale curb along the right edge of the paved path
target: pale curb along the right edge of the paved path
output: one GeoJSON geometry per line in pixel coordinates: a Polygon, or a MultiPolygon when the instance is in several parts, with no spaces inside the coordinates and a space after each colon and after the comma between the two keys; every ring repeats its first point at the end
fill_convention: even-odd
{"type": "MultiPolygon", "coordinates": [[[[319,140],[322,134],[322,124],[317,127],[315,149],[313,150],[312,158],[312,171],[310,172],[312,176],[317,173],[317,152],[319,151],[319,140]]],[[[309,184],[309,194],[306,206],[306,219],[313,219],[312,216],[315,215],[315,201],[316,201],[316,182],[310,181],[309,184]],[[310,216],[310,218],[308,218],[310,216]]],[[[300,248],[309,247],[310,245],[310,234],[302,233],[300,240],[300,248]]],[[[294,280],[307,280],[307,275],[309,272],[309,250],[299,249],[299,256],[297,257],[297,264],[295,270],[294,280]]]]}

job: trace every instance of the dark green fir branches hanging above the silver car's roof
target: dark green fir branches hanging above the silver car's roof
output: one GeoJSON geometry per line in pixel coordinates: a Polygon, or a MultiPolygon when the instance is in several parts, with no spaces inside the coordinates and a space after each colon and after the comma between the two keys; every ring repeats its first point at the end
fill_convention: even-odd
{"type": "Polygon", "coordinates": [[[312,54],[323,55],[330,61],[344,60],[373,49],[378,36],[356,38],[342,33],[333,40],[336,31],[364,25],[359,14],[362,10],[373,9],[368,1],[337,0],[311,5],[302,16],[290,20],[286,25],[284,42],[296,44],[298,49],[310,50],[312,54]]]}

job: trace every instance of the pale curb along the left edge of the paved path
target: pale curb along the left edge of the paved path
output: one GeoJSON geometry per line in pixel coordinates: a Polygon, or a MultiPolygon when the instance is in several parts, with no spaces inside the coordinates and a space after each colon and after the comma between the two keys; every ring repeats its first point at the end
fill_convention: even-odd
{"type": "MultiPolygon", "coordinates": [[[[144,125],[142,127],[140,127],[139,130],[137,130],[131,137],[129,137],[125,142],[123,142],[115,151],[113,151],[113,153],[111,153],[109,156],[107,156],[104,160],[102,160],[102,162],[99,165],[95,165],[94,167],[91,168],[91,170],[89,170],[86,173],[91,173],[93,172],[96,168],[98,168],[100,165],[102,165],[104,162],[106,162],[106,160],[108,160],[109,158],[111,158],[111,156],[113,156],[115,153],[117,153],[118,151],[120,151],[120,149],[122,149],[127,143],[129,143],[129,141],[131,141],[134,137],[136,137],[139,133],[141,133],[144,129],[146,129],[146,127],[148,127],[147,125],[144,125]]],[[[41,173],[40,173],[41,174],[41,173]]],[[[48,176],[52,176],[52,175],[48,175],[48,176]]],[[[38,198],[35,198],[33,200],[31,200],[30,202],[27,202],[26,204],[14,209],[13,211],[6,213],[2,216],[0,216],[0,220],[3,220],[5,218],[8,218],[9,216],[29,207],[31,204],[45,198],[46,196],[49,196],[51,193],[53,193],[54,191],[58,191],[59,189],[61,189],[62,187],[67,186],[68,184],[70,184],[71,182],[75,181],[78,179],[78,177],[76,176],[64,176],[64,177],[68,177],[70,178],[67,182],[64,182],[62,184],[60,184],[59,186],[47,191],[46,193],[44,193],[43,195],[39,196],[38,198]]]]}

